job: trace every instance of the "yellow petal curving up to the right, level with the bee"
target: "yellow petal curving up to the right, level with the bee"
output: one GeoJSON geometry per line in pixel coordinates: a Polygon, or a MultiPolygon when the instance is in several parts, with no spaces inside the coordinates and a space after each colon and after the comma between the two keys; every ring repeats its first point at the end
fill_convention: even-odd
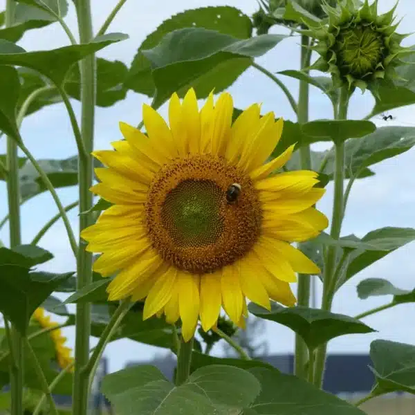
{"type": "Polygon", "coordinates": [[[282,199],[275,202],[261,199],[264,192],[259,192],[259,201],[262,203],[264,212],[267,211],[275,215],[293,214],[311,208],[312,205],[315,205],[322,198],[325,192],[325,189],[320,189],[319,187],[313,187],[308,192],[299,195],[286,192],[282,199]]]}

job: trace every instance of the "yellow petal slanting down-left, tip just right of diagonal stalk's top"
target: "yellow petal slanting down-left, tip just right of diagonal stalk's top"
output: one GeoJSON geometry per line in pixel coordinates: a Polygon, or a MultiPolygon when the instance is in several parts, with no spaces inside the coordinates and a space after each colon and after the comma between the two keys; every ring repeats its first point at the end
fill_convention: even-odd
{"type": "Polygon", "coordinates": [[[144,311],[142,312],[144,320],[158,313],[172,298],[176,275],[176,268],[171,266],[156,279],[145,299],[144,311]]]}

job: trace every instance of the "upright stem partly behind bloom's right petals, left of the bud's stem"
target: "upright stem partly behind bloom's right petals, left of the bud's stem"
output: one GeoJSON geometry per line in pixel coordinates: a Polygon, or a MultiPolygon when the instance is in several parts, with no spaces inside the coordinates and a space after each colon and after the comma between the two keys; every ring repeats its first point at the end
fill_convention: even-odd
{"type": "MultiPolygon", "coordinates": [[[[307,36],[301,37],[301,69],[305,71],[305,68],[310,66],[311,55],[308,53],[307,36]]],[[[298,95],[298,112],[297,119],[299,124],[308,121],[308,83],[304,81],[299,82],[299,95],[298,95]]],[[[299,157],[301,160],[302,169],[311,169],[311,156],[310,146],[306,145],[300,147],[299,157]]],[[[301,248],[301,245],[299,246],[301,248]]],[[[310,276],[299,274],[298,275],[298,288],[297,288],[297,304],[299,306],[308,307],[310,304],[310,276]]],[[[295,335],[295,375],[299,378],[306,378],[306,362],[308,360],[307,345],[299,335],[295,335]]]]}

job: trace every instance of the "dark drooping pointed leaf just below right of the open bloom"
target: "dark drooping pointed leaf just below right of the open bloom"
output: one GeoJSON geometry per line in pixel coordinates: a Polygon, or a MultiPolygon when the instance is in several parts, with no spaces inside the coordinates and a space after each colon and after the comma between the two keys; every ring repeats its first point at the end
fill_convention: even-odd
{"type": "Polygon", "coordinates": [[[286,308],[273,303],[271,311],[250,303],[248,310],[257,317],[289,327],[300,335],[310,349],[340,335],[371,333],[375,331],[348,315],[335,314],[317,308],[303,306],[286,308]]]}

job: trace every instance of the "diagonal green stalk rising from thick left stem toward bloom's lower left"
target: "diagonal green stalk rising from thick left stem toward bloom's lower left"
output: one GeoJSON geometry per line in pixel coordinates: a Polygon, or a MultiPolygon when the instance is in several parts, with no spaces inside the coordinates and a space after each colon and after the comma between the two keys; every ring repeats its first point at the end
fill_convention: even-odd
{"type": "Polygon", "coordinates": [[[128,313],[129,309],[131,308],[131,306],[133,306],[133,304],[134,303],[129,302],[128,299],[124,299],[121,302],[116,311],[113,313],[111,320],[109,320],[109,323],[105,327],[104,331],[102,331],[100,340],[98,344],[95,346],[95,349],[92,353],[91,358],[89,359],[89,362],[84,367],[84,369],[82,369],[82,372],[86,374],[86,376],[89,376],[89,390],[91,390],[93,378],[100,363],[100,359],[102,358],[102,353],[104,353],[105,347],[111,340],[111,337],[116,332],[118,326],[120,326],[120,323],[122,322],[122,319],[128,313]]]}

